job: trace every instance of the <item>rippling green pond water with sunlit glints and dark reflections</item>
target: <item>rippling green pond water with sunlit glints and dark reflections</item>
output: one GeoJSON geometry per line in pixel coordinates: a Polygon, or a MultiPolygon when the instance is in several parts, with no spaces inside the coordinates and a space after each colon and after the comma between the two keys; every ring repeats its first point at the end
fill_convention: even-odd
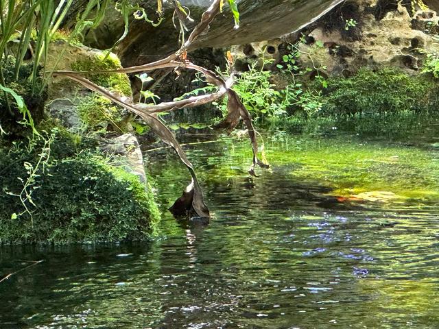
{"type": "Polygon", "coordinates": [[[0,283],[0,328],[439,328],[434,142],[277,134],[258,178],[248,141],[189,145],[206,228],[166,212],[187,172],[147,152],[158,238],[0,247],[2,276],[44,260],[0,283]]]}

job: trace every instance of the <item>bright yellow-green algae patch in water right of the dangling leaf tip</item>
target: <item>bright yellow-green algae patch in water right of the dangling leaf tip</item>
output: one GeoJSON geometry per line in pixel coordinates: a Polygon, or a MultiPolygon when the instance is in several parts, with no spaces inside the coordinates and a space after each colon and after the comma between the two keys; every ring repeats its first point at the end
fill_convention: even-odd
{"type": "Polygon", "coordinates": [[[335,195],[370,191],[426,199],[439,195],[437,151],[331,138],[297,140],[282,155],[268,153],[272,162],[297,164],[294,177],[317,180],[333,188],[335,195]]]}

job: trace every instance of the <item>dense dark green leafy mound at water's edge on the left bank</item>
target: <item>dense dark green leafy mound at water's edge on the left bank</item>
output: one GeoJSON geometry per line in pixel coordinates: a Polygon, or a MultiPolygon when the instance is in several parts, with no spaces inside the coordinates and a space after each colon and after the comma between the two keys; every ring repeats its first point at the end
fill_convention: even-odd
{"type": "Polygon", "coordinates": [[[107,158],[76,151],[62,136],[45,165],[37,165],[44,149],[40,139],[0,150],[0,242],[141,240],[154,232],[159,213],[150,184],[107,158]],[[17,197],[29,175],[32,219],[17,197]]]}

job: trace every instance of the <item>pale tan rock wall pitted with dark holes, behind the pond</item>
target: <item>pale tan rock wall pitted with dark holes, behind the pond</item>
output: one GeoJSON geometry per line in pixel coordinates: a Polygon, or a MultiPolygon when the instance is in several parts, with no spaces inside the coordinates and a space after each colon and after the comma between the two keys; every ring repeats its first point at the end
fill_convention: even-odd
{"type": "MultiPolygon", "coordinates": [[[[392,1],[346,1],[300,32],[305,34],[306,42],[298,45],[302,52],[299,64],[319,68],[324,76],[348,76],[366,65],[397,66],[416,73],[425,58],[425,51],[420,49],[439,51],[434,39],[439,32],[439,17],[434,10],[407,7],[392,1]],[[346,25],[351,19],[356,22],[354,26],[346,25]]],[[[251,63],[261,55],[279,61],[287,48],[281,42],[294,43],[297,39],[298,34],[289,34],[234,47],[233,52],[238,63],[251,63]],[[261,45],[265,47],[261,49],[261,45]],[[272,54],[268,52],[270,47],[272,54]]],[[[309,75],[312,78],[316,71],[309,75]]]]}

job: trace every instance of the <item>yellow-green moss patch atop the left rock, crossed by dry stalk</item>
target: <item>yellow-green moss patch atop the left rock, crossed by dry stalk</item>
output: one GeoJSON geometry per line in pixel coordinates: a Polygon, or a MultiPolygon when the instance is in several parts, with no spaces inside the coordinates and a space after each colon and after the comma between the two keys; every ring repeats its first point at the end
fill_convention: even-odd
{"type": "MultiPolygon", "coordinates": [[[[93,58],[87,60],[78,60],[71,64],[73,71],[105,71],[120,69],[121,62],[115,54],[110,53],[105,58],[104,53],[97,53],[93,58]]],[[[99,73],[86,75],[88,79],[99,86],[109,88],[110,90],[117,91],[122,95],[131,95],[130,80],[126,74],[119,73],[99,73]]]]}

